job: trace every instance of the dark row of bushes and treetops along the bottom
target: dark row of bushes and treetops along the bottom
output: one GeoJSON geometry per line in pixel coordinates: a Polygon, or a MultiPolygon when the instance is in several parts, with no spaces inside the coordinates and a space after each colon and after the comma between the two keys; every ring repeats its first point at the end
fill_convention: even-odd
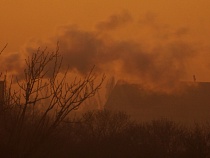
{"type": "Polygon", "coordinates": [[[14,113],[0,116],[0,157],[210,157],[207,123],[190,127],[167,119],[137,123],[125,113],[102,110],[68,119],[50,135],[44,135],[44,127],[34,135],[34,121],[28,116],[16,145],[11,141],[14,113]]]}

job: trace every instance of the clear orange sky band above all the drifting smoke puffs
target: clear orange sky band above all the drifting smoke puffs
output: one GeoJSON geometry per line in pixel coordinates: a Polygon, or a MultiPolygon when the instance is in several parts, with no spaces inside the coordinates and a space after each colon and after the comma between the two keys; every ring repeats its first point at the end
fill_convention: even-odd
{"type": "Polygon", "coordinates": [[[190,27],[201,39],[210,37],[209,0],[1,0],[1,43],[10,48],[42,38],[65,24],[91,28],[114,13],[128,10],[137,18],[152,12],[162,23],[190,27]]]}

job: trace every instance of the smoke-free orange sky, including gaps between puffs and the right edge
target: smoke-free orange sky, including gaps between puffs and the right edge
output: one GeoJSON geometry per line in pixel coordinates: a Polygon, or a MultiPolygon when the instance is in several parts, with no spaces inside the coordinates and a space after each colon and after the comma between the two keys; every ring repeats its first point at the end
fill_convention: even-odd
{"type": "MultiPolygon", "coordinates": [[[[145,29],[151,27],[145,25],[147,16],[149,17],[147,20],[155,19],[150,19],[148,25],[155,27],[157,36],[185,28],[180,29],[187,30],[186,36],[181,37],[181,40],[202,44],[199,51],[205,54],[204,58],[203,55],[197,57],[193,62],[197,65],[189,66],[189,71],[190,73],[195,71],[203,81],[210,80],[210,71],[206,68],[210,65],[207,60],[210,57],[209,0],[0,0],[0,2],[0,47],[8,43],[6,52],[19,52],[31,39],[42,40],[56,36],[56,28],[60,26],[77,25],[84,30],[94,30],[99,22],[106,21],[109,16],[128,12],[133,23],[144,21],[144,31],[139,25],[132,25],[109,34],[123,39],[153,41],[153,36],[148,33],[151,30],[145,29]]],[[[191,79],[190,77],[186,79],[191,79]]]]}

